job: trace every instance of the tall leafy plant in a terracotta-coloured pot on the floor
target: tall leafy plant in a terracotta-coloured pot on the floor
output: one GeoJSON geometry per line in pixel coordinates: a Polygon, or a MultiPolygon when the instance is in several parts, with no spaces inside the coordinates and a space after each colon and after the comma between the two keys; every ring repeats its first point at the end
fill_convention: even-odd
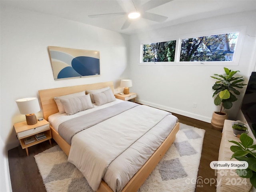
{"type": "Polygon", "coordinates": [[[217,130],[222,130],[224,120],[228,118],[224,109],[232,108],[232,102],[237,100],[235,95],[239,95],[240,92],[237,88],[243,88],[246,84],[243,84],[243,77],[234,77],[234,74],[240,71],[232,71],[224,67],[225,74],[210,76],[211,78],[217,79],[212,89],[215,90],[212,97],[215,96],[214,104],[220,106],[220,111],[214,112],[212,115],[212,126],[217,130]]]}

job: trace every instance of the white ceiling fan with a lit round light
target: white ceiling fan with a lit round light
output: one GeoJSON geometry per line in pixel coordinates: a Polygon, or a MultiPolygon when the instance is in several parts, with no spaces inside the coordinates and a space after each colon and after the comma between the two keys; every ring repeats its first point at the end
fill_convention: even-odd
{"type": "MultiPolygon", "coordinates": [[[[134,7],[136,9],[136,12],[130,12],[130,13],[134,13],[135,15],[137,15],[137,17],[141,16],[144,19],[148,19],[148,20],[152,20],[152,21],[156,21],[156,22],[163,22],[168,17],[162,16],[162,15],[158,15],[158,14],[154,14],[154,13],[149,13],[149,12],[146,12],[146,11],[148,11],[148,10],[150,10],[152,8],[158,7],[160,5],[166,4],[166,3],[170,2],[170,1],[172,1],[172,0],[150,0],[150,1],[146,2],[145,4],[142,4],[142,6],[138,7],[139,11],[137,11],[136,6],[134,5],[134,7]]],[[[134,4],[134,2],[133,2],[133,4],[134,4]]],[[[132,19],[135,18],[135,17],[134,18],[130,18],[130,13],[119,12],[119,13],[96,14],[96,15],[88,15],[88,17],[90,17],[90,18],[98,18],[98,17],[104,17],[104,16],[128,15],[129,18],[126,19],[126,21],[124,22],[124,24],[123,24],[123,26],[121,28],[123,30],[123,29],[127,29],[130,26],[130,24],[132,23],[132,19]]]]}

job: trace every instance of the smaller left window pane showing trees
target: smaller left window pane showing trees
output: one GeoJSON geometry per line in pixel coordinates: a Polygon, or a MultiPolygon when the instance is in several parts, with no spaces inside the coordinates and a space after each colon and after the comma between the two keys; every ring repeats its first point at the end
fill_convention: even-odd
{"type": "Polygon", "coordinates": [[[142,62],[173,62],[175,46],[176,40],[144,44],[142,62]]]}

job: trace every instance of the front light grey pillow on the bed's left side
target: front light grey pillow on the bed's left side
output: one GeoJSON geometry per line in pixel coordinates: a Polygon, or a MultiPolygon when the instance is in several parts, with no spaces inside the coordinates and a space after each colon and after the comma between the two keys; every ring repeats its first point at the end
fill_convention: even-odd
{"type": "Polygon", "coordinates": [[[66,114],[72,115],[80,111],[84,111],[86,109],[92,108],[92,102],[90,98],[90,94],[73,97],[73,98],[66,98],[60,99],[66,114]]]}

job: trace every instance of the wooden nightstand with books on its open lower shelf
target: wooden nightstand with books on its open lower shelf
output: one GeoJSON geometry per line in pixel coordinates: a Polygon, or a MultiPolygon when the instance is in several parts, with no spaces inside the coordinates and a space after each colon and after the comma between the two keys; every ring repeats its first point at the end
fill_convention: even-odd
{"type": "Polygon", "coordinates": [[[18,122],[14,124],[14,128],[15,128],[17,137],[20,141],[20,145],[22,149],[26,149],[27,156],[28,156],[28,147],[31,147],[38,143],[42,143],[46,140],[49,140],[50,144],[52,145],[52,142],[51,142],[52,134],[50,130],[50,124],[46,120],[37,121],[37,123],[34,125],[28,125],[26,121],[18,122]],[[46,138],[37,140],[35,135],[38,133],[44,133],[46,138]],[[25,144],[26,140],[28,141],[28,144],[25,144]]]}

